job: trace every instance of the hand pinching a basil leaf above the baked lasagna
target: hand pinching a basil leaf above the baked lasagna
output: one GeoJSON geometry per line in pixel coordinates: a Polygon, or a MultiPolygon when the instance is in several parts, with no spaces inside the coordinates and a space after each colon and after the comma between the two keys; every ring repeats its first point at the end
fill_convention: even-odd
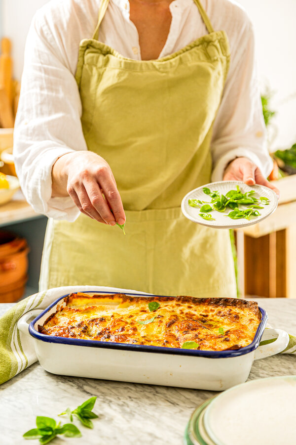
{"type": "Polygon", "coordinates": [[[52,197],[70,195],[81,213],[100,223],[125,223],[115,179],[101,156],[92,151],[67,153],[57,159],[51,176],[52,197]]]}

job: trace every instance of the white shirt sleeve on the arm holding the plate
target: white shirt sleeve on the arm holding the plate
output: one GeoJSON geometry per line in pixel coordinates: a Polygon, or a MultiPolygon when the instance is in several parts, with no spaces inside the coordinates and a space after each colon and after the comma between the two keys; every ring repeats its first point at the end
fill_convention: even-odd
{"type": "Polygon", "coordinates": [[[230,68],[216,116],[211,142],[212,180],[220,181],[229,161],[244,156],[266,177],[272,161],[266,146],[266,129],[255,60],[254,30],[250,20],[230,55],[230,68]]]}

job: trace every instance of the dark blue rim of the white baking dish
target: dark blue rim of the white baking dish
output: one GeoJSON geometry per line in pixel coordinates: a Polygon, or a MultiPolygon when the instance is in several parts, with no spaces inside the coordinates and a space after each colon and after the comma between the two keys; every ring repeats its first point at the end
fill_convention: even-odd
{"type": "MultiPolygon", "coordinates": [[[[76,292],[71,292],[76,293],[76,292]]],[[[83,292],[85,294],[118,294],[120,292],[106,292],[106,291],[86,291],[83,292]]],[[[38,332],[34,325],[35,323],[49,312],[51,308],[53,308],[60,300],[68,295],[63,295],[63,297],[59,297],[55,300],[50,306],[48,306],[44,311],[42,311],[33,321],[29,324],[29,332],[32,337],[37,340],[41,340],[42,342],[47,343],[58,343],[63,345],[75,345],[75,346],[88,346],[93,348],[107,348],[107,349],[119,349],[124,351],[141,351],[141,352],[149,352],[149,353],[159,353],[159,354],[177,354],[182,356],[198,356],[198,357],[208,357],[208,358],[229,358],[229,357],[237,357],[248,354],[255,349],[258,348],[261,337],[263,335],[265,325],[267,323],[268,315],[264,309],[259,307],[259,311],[261,312],[261,320],[259,326],[257,328],[254,340],[250,345],[245,346],[240,349],[230,350],[230,351],[200,351],[200,350],[190,350],[190,349],[182,349],[182,348],[167,348],[165,346],[150,346],[150,345],[134,345],[130,343],[115,343],[115,342],[101,342],[100,340],[84,340],[79,338],[68,338],[68,337],[54,337],[51,335],[41,334],[38,332]]],[[[126,295],[134,296],[134,297],[159,297],[159,298],[167,298],[164,295],[153,295],[153,294],[137,294],[137,293],[129,293],[126,292],[126,295]]],[[[170,297],[172,298],[172,297],[170,297]]],[[[174,297],[173,297],[174,298],[174,297]]]]}

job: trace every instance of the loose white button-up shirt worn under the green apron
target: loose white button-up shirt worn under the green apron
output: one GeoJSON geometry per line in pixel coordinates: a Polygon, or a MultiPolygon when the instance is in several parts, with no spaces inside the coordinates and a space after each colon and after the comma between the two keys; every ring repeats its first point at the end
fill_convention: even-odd
{"type": "MultiPolygon", "coordinates": [[[[213,128],[212,180],[222,180],[226,164],[236,156],[248,157],[267,176],[272,162],[265,143],[252,23],[234,1],[201,2],[214,30],[226,32],[231,51],[213,128]]],[[[70,197],[51,198],[51,170],[64,153],[87,150],[74,74],[79,42],[92,37],[99,4],[100,0],[52,0],[35,14],[27,38],[14,131],[15,165],[28,202],[36,212],[55,219],[74,221],[79,216],[70,197]]],[[[207,34],[193,0],[174,0],[170,11],[171,27],[159,57],[207,34]]],[[[128,0],[110,0],[99,40],[125,57],[141,60],[139,36],[129,19],[128,0]]]]}

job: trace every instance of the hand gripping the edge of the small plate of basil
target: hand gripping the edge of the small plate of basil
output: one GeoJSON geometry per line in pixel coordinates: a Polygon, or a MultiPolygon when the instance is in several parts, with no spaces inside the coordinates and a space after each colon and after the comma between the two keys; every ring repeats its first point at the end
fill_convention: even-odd
{"type": "Polygon", "coordinates": [[[241,157],[231,161],[225,168],[223,180],[244,181],[248,185],[265,185],[274,190],[278,197],[280,196],[280,191],[264,178],[259,167],[248,158],[241,157]]]}

